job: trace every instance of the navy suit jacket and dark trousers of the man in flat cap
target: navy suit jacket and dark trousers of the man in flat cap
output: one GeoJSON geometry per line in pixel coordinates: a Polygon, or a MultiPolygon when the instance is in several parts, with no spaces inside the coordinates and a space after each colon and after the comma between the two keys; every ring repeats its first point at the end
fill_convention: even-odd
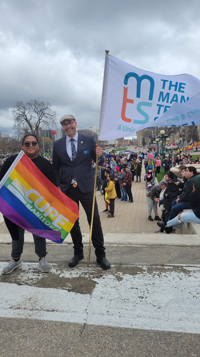
{"type": "MultiPolygon", "coordinates": [[[[96,142],[94,136],[78,134],[77,154],[74,163],[70,160],[66,149],[66,136],[54,141],[52,165],[56,172],[57,186],[65,192],[69,198],[79,202],[84,208],[88,223],[91,223],[91,212],[94,190],[94,175],[92,171],[92,159],[96,162],[96,142]],[[75,173],[78,187],[73,187],[72,178],[75,173]]],[[[104,164],[104,157],[100,157],[98,165],[104,164]]],[[[82,235],[79,219],[70,231],[74,244],[74,254],[83,254],[82,235]]],[[[98,258],[105,257],[104,237],[101,228],[98,206],[95,199],[92,242],[95,255],[98,258]]]]}

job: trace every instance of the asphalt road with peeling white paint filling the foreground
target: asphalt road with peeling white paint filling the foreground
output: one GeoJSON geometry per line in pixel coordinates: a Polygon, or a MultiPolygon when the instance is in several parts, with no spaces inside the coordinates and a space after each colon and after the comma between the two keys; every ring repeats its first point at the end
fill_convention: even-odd
{"type": "Polygon", "coordinates": [[[71,269],[72,245],[48,245],[43,274],[28,244],[0,276],[1,357],[199,356],[199,247],[107,246],[109,271],[87,248],[71,269]]]}

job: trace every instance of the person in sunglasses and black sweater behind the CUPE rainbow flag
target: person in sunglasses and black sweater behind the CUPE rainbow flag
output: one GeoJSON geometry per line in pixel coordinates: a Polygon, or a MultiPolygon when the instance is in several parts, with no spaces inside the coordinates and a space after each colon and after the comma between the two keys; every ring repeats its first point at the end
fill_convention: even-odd
{"type": "MultiPolygon", "coordinates": [[[[21,148],[23,152],[32,160],[32,162],[38,167],[38,169],[50,180],[54,185],[56,185],[56,176],[51,163],[44,159],[44,157],[38,155],[39,142],[38,138],[34,134],[27,134],[22,139],[21,148]]],[[[7,158],[1,167],[0,171],[0,181],[9,170],[10,166],[16,159],[17,155],[12,155],[7,158]]],[[[10,221],[8,218],[4,217],[4,221],[7,229],[12,238],[12,252],[11,261],[3,269],[3,274],[11,273],[15,268],[22,265],[21,255],[23,252],[24,243],[24,230],[10,221]]],[[[46,250],[46,239],[36,236],[33,234],[33,240],[35,243],[35,252],[39,258],[39,265],[42,272],[48,272],[51,268],[46,260],[47,250],[46,250]]]]}

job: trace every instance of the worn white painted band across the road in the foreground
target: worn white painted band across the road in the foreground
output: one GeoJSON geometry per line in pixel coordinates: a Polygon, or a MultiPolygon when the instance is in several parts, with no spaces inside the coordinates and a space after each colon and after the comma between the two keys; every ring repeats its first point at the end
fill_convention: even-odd
{"type": "MultiPolygon", "coordinates": [[[[0,263],[0,270],[6,263],[0,263]]],[[[56,264],[48,274],[55,277],[83,276],[96,281],[91,295],[54,288],[26,285],[34,284],[38,277],[37,263],[24,263],[18,269],[18,281],[25,285],[0,283],[0,317],[37,318],[107,325],[144,330],[200,333],[199,277],[200,266],[142,268],[135,276],[105,272],[98,276],[99,267],[76,267],[59,271],[56,264]],[[96,274],[94,273],[96,271],[96,274]]],[[[129,266],[130,267],[130,266],[129,266]]],[[[102,273],[102,270],[101,270],[102,273]]]]}

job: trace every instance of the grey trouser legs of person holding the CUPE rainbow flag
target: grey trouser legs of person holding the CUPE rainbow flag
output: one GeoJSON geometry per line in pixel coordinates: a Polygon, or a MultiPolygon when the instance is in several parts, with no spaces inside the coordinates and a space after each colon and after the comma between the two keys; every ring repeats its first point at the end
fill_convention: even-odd
{"type": "MultiPolygon", "coordinates": [[[[11,253],[12,258],[20,257],[23,252],[24,229],[18,226],[18,230],[19,230],[20,239],[17,241],[14,241],[12,239],[12,253],[11,253]]],[[[47,255],[46,239],[42,237],[38,237],[35,234],[33,234],[33,240],[35,243],[35,253],[40,258],[45,257],[47,255]]]]}

